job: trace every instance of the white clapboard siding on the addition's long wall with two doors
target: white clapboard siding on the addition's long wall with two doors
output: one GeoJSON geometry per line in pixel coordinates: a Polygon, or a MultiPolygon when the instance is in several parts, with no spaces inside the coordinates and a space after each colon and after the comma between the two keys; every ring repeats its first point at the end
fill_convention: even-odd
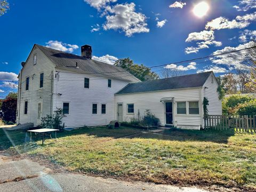
{"type": "MultiPolygon", "coordinates": [[[[174,125],[189,125],[200,126],[202,125],[202,105],[199,105],[199,115],[178,115],[177,114],[177,101],[198,101],[201,103],[199,88],[179,89],[179,90],[166,90],[134,94],[116,94],[115,95],[115,110],[117,114],[117,103],[123,103],[124,108],[124,121],[130,121],[132,117],[140,114],[145,114],[146,110],[150,110],[151,114],[156,115],[165,125],[165,109],[164,104],[160,102],[162,98],[174,98],[174,125]],[[134,103],[134,115],[127,114],[127,104],[134,103]]],[[[116,115],[117,119],[117,115],[116,115]]]]}

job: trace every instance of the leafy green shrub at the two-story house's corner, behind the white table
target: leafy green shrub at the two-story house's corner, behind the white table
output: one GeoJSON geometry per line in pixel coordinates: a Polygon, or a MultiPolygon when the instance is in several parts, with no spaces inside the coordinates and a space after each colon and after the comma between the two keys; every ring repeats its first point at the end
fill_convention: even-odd
{"type": "Polygon", "coordinates": [[[46,117],[42,117],[41,125],[39,125],[39,127],[46,129],[59,129],[60,131],[63,131],[63,117],[65,117],[65,115],[63,114],[63,109],[58,108],[54,111],[53,115],[46,115],[46,117]]]}

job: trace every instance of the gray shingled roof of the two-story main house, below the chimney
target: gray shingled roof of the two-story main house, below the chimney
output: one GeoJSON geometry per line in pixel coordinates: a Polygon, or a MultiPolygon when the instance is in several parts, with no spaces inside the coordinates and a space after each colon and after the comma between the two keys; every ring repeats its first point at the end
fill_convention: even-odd
{"type": "Polygon", "coordinates": [[[100,61],[87,60],[82,56],[51,49],[42,45],[36,44],[35,46],[37,46],[56,67],[77,71],[78,73],[107,76],[108,78],[122,79],[129,82],[140,82],[138,78],[121,67],[100,61]],[[78,68],[76,67],[76,62],[78,63],[78,68]]]}

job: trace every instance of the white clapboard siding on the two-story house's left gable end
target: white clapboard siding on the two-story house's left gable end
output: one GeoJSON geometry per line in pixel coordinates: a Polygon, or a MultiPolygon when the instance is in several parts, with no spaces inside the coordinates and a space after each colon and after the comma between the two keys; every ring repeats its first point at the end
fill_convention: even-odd
{"type": "Polygon", "coordinates": [[[51,113],[51,75],[54,71],[53,63],[35,46],[31,51],[26,65],[22,68],[19,76],[19,90],[21,97],[18,98],[17,123],[39,124],[37,119],[38,102],[43,102],[42,116],[51,113]],[[37,55],[37,63],[33,64],[34,54],[37,55]],[[40,74],[44,73],[44,86],[39,88],[40,74]],[[29,90],[26,91],[26,78],[29,77],[29,90]],[[20,103],[19,103],[20,101],[20,103]],[[28,101],[28,114],[24,114],[25,101],[28,101]],[[20,111],[19,111],[20,106],[20,111]],[[20,116],[20,117],[19,117],[20,116]]]}

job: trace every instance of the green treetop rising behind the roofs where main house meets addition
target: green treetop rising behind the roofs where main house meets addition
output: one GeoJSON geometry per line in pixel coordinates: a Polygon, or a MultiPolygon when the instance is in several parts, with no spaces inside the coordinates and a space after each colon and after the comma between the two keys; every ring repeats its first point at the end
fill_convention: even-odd
{"type": "Polygon", "coordinates": [[[130,74],[140,79],[140,81],[146,81],[145,76],[151,77],[151,79],[158,79],[159,76],[151,71],[150,68],[145,65],[138,65],[133,63],[133,60],[130,58],[119,59],[115,62],[115,66],[122,67],[123,69],[129,71],[130,74]]]}

